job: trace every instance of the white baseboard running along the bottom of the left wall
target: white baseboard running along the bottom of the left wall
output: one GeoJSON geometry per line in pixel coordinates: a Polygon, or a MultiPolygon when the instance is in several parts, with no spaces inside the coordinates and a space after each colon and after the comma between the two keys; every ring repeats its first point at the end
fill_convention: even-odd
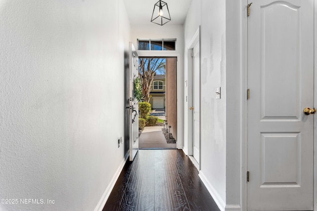
{"type": "Polygon", "coordinates": [[[117,169],[117,171],[113,175],[109,185],[106,187],[106,190],[105,190],[103,196],[101,197],[101,199],[99,200],[99,202],[98,202],[98,204],[97,204],[97,206],[96,206],[94,211],[103,211],[103,209],[104,209],[104,207],[106,205],[106,201],[109,198],[110,193],[111,193],[111,191],[112,191],[112,189],[113,189],[113,187],[115,185],[115,182],[119,178],[120,173],[121,173],[126,161],[128,160],[128,158],[129,158],[129,154],[125,155],[124,160],[122,161],[122,163],[120,164],[119,168],[117,169]]]}

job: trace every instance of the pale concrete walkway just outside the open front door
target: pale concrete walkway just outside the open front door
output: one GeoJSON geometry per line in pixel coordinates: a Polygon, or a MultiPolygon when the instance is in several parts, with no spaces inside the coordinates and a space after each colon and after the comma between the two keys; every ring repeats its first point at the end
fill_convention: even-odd
{"type": "Polygon", "coordinates": [[[176,148],[176,144],[166,142],[162,128],[162,126],[145,127],[139,137],[139,148],[176,148]]]}

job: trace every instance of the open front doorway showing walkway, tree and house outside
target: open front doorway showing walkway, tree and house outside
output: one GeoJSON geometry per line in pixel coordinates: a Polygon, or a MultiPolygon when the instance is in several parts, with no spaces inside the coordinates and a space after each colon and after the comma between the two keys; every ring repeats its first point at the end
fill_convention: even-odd
{"type": "Polygon", "coordinates": [[[143,96],[147,96],[144,101],[151,104],[149,119],[158,118],[155,126],[146,122],[140,133],[139,147],[176,148],[177,58],[140,57],[139,63],[143,96]]]}

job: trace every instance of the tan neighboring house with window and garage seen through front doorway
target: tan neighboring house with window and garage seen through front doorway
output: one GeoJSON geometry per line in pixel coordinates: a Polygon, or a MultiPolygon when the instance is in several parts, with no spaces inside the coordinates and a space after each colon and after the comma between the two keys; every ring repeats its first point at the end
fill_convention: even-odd
{"type": "Polygon", "coordinates": [[[150,104],[153,109],[165,108],[165,86],[165,75],[156,75],[150,91],[150,104]]]}

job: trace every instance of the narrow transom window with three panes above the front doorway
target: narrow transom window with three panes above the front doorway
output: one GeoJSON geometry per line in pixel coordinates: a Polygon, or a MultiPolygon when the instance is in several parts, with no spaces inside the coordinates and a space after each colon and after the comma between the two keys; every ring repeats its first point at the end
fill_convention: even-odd
{"type": "Polygon", "coordinates": [[[164,40],[139,40],[138,50],[175,50],[176,39],[164,40]]]}

